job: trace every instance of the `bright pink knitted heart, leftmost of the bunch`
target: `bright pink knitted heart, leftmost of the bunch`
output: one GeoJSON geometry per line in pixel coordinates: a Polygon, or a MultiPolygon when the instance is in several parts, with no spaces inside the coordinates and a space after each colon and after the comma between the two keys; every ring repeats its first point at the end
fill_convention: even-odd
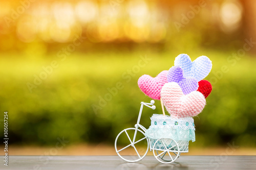
{"type": "Polygon", "coordinates": [[[160,100],[161,89],[167,83],[167,72],[167,70],[164,70],[155,78],[148,75],[141,76],[138,80],[139,88],[150,98],[160,100]]]}

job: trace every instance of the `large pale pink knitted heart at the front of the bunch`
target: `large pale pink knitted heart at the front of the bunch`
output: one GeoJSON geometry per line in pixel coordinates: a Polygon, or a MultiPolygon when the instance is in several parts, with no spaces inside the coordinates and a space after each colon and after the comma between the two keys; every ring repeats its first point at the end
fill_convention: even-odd
{"type": "Polygon", "coordinates": [[[199,91],[184,95],[180,86],[175,82],[166,83],[161,90],[161,99],[172,117],[182,118],[198,115],[206,102],[199,91]]]}

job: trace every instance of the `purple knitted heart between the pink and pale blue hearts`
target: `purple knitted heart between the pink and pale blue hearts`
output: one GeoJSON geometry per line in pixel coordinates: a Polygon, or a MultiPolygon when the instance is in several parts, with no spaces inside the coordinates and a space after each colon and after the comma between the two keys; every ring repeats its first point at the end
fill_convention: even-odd
{"type": "Polygon", "coordinates": [[[196,79],[183,77],[183,70],[179,66],[173,66],[169,69],[167,81],[178,83],[185,95],[196,91],[199,87],[196,79]]]}

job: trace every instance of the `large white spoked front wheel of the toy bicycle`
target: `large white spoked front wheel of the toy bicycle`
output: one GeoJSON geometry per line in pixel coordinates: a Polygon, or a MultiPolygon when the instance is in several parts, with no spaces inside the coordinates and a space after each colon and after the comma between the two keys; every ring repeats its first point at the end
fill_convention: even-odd
{"type": "Polygon", "coordinates": [[[133,143],[136,128],[122,130],[116,137],[115,149],[117,155],[127,162],[137,162],[142,160],[149,148],[148,138],[144,132],[138,129],[133,143]],[[120,147],[120,146],[123,147],[120,147]]]}

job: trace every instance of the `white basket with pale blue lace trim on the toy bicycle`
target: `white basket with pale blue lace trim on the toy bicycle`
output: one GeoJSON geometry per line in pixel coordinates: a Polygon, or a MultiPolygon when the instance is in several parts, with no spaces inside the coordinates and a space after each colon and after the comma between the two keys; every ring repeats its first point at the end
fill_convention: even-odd
{"type": "Polygon", "coordinates": [[[151,126],[146,130],[145,136],[150,139],[150,149],[188,152],[189,140],[195,141],[195,125],[192,117],[172,118],[162,114],[153,114],[151,126]],[[158,140],[162,138],[161,140],[158,140]],[[158,140],[158,141],[157,141],[158,140]],[[174,141],[175,140],[175,141],[174,141]],[[156,143],[157,142],[157,143],[156,143]]]}

